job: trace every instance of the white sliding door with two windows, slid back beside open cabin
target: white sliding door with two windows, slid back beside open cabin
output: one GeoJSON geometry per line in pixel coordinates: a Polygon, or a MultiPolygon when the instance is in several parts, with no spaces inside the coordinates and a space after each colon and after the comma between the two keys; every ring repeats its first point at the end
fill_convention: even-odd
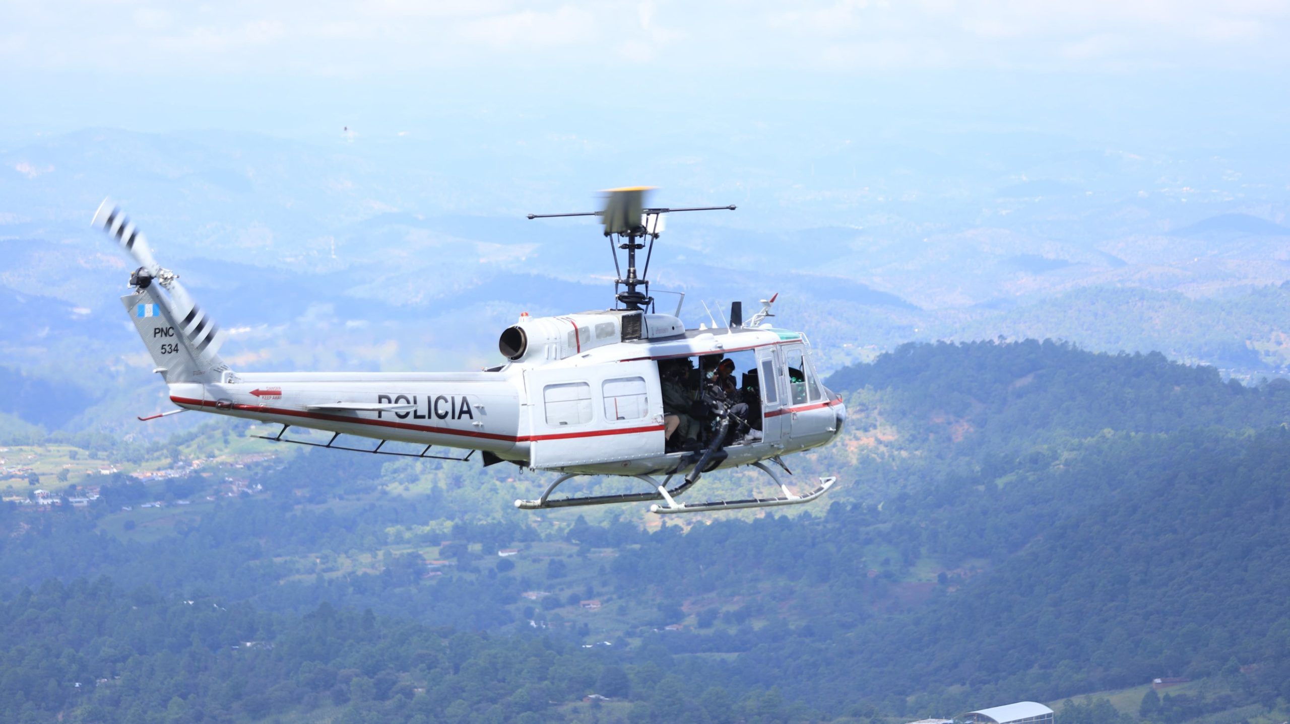
{"type": "Polygon", "coordinates": [[[642,359],[525,372],[530,465],[569,468],[663,455],[658,365],[642,359]]]}

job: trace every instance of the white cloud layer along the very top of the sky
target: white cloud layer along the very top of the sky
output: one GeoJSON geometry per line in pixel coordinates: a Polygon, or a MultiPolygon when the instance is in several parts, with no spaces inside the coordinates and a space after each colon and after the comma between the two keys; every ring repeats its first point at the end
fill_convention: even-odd
{"type": "Polygon", "coordinates": [[[1263,0],[284,0],[0,4],[13,72],[132,76],[649,64],[659,70],[1285,67],[1263,0]]]}

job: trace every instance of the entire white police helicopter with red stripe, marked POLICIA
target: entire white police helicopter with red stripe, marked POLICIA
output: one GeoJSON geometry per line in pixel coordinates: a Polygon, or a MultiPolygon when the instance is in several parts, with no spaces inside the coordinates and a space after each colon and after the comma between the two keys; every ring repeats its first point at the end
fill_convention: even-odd
{"type": "Polygon", "coordinates": [[[762,300],[762,309],[747,322],[737,301],[729,321],[717,325],[713,318],[712,327],[698,330],[686,330],[676,314],[654,310],[646,276],[664,215],[734,206],[645,207],[646,191],[613,189],[601,211],[529,215],[601,216],[619,272],[618,308],[542,318],[525,313],[502,331],[498,348],[506,363],[481,372],[419,374],[230,370],[218,356],[223,332],[184,291],[178,274],[156,263],[138,227],[103,201],[93,225],[139,264],[130,274],[133,291],[121,303],[179,407],[141,420],[197,410],[280,424],[281,430],[267,438],[279,442],[459,461],[479,451],[485,466],[506,461],[560,473],[541,497],[515,501],[528,510],[654,501],[649,509],[663,514],[818,499],[835,477],[797,495],[766,462],[791,474],[784,455],[836,438],[846,419],[841,397],[820,384],[806,336],[766,322],[774,296],[762,300]],[[626,251],[626,276],[619,250],[626,251]],[[646,256],[637,274],[640,250],[646,256]],[[284,437],[293,426],[329,432],[332,439],[284,437]],[[379,442],[374,448],[337,444],[341,435],[379,442]],[[424,447],[396,452],[383,450],[387,442],[424,447]],[[471,452],[431,455],[435,447],[471,452]],[[779,495],[677,500],[700,475],[740,465],[769,475],[779,495]],[[648,490],[552,497],[579,475],[633,478],[648,490]]]}

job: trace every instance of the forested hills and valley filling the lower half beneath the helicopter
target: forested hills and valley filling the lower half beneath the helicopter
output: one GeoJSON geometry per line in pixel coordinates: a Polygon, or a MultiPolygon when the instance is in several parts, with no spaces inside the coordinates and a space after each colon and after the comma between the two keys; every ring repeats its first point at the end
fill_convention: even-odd
{"type": "Polygon", "coordinates": [[[0,719],[898,724],[1170,675],[1206,688],[1059,716],[1285,719],[1290,385],[1038,341],[829,385],[844,439],[789,464],[841,483],[795,517],[529,517],[541,481],[335,451],[200,511],[141,505],[200,474],[5,505],[0,719]]]}

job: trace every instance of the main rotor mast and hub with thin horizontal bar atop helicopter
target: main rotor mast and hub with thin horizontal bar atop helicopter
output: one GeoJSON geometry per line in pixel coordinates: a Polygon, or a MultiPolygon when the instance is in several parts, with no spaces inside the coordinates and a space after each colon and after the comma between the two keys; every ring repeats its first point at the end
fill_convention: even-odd
{"type": "Polygon", "coordinates": [[[690,206],[686,209],[646,207],[645,192],[653,187],[630,187],[609,189],[602,211],[579,211],[574,214],[529,214],[530,219],[550,219],[555,216],[600,216],[609,237],[609,249],[614,255],[614,299],[623,309],[648,309],[654,298],[649,295],[649,262],[654,252],[654,242],[663,233],[663,214],[672,211],[734,211],[729,206],[690,206]],[[637,274],[636,252],[645,250],[645,265],[637,274]],[[627,251],[627,276],[623,276],[618,260],[618,250],[627,251]],[[619,291],[624,287],[623,291],[619,291]],[[640,287],[644,287],[641,291],[640,287]]]}

